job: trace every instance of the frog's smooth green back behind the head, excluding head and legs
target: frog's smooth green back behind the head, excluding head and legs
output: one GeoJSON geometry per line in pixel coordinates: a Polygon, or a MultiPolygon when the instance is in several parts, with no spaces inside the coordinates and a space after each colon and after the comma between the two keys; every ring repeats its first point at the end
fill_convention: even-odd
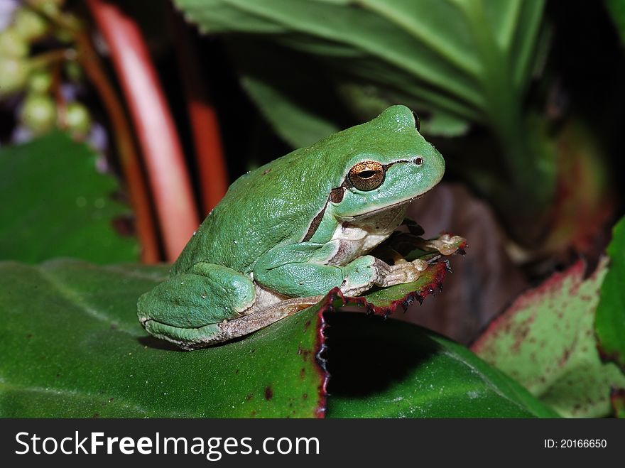
{"type": "Polygon", "coordinates": [[[172,273],[200,261],[249,273],[271,247],[301,241],[308,229],[303,220],[325,206],[329,191],[311,163],[323,158],[311,149],[293,151],[237,179],[193,234],[172,273]]]}

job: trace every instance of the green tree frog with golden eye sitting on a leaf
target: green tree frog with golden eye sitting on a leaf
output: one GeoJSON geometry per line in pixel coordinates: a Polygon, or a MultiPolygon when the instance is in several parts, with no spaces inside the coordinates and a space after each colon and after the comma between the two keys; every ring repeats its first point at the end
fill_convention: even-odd
{"type": "Polygon", "coordinates": [[[410,109],[389,107],[242,175],[169,279],[139,298],[143,327],[195,349],[249,334],[335,287],[359,295],[414,281],[417,263],[369,252],[445,172],[417,127],[410,109]]]}

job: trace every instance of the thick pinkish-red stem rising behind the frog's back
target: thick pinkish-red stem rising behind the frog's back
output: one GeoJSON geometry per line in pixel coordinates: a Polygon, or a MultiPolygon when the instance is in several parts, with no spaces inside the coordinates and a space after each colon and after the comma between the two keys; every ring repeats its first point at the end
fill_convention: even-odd
{"type": "Polygon", "coordinates": [[[129,105],[143,150],[165,256],[173,261],[200,222],[173,118],[146,42],[133,18],[108,0],[88,0],[87,5],[107,41],[129,105]]]}

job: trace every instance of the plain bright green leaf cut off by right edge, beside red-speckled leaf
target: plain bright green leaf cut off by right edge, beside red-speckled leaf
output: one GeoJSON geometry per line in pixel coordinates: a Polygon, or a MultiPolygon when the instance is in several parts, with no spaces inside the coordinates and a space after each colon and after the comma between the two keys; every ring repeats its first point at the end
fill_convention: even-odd
{"type": "Polygon", "coordinates": [[[607,252],[610,266],[601,285],[594,327],[602,357],[625,369],[625,218],[614,227],[607,252]]]}

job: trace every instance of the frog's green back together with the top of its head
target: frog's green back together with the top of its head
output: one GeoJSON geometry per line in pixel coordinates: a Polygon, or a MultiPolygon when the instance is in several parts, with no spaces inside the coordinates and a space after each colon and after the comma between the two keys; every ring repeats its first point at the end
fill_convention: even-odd
{"type": "Polygon", "coordinates": [[[242,175],[197,229],[171,273],[184,273],[197,262],[249,273],[273,246],[303,241],[330,190],[344,180],[350,158],[401,152],[409,146],[406,141],[429,146],[414,131],[410,109],[394,106],[372,121],[242,175]]]}

